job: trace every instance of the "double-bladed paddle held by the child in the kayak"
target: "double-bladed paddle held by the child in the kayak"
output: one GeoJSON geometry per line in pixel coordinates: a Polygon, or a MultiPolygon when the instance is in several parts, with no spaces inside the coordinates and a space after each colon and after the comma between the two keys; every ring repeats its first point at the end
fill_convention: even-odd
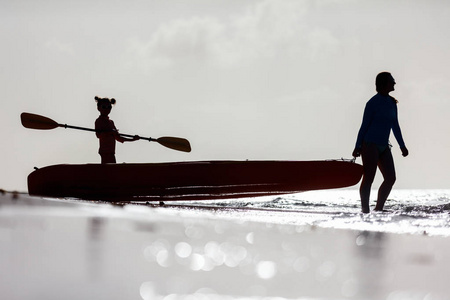
{"type": "MultiPolygon", "coordinates": [[[[78,126],[71,126],[67,124],[59,124],[58,122],[36,114],[30,114],[30,113],[22,113],[20,115],[20,120],[22,121],[22,125],[26,128],[30,129],[41,129],[41,130],[48,130],[48,129],[54,129],[57,127],[64,127],[64,128],[71,128],[71,129],[79,129],[79,130],[85,130],[85,131],[92,131],[95,132],[95,129],[91,128],[84,128],[84,127],[78,127],[78,126]]],[[[131,134],[123,134],[120,133],[123,137],[134,137],[134,135],[131,134]]],[[[170,136],[164,136],[157,139],[154,138],[146,138],[141,137],[141,140],[147,140],[150,142],[157,142],[164,147],[183,151],[183,152],[191,152],[191,145],[188,140],[178,137],[170,137],[170,136]]]]}

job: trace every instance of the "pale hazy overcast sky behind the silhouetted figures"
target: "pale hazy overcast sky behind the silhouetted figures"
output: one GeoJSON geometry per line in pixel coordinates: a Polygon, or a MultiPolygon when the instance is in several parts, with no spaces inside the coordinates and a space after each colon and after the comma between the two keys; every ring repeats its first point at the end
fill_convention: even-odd
{"type": "Polygon", "coordinates": [[[0,25],[0,188],[99,162],[93,133],[20,124],[93,127],[95,95],[121,132],[193,149],[118,144],[118,162],[351,158],[381,71],[410,150],[391,135],[395,187],[450,188],[449,1],[14,0],[0,25]]]}

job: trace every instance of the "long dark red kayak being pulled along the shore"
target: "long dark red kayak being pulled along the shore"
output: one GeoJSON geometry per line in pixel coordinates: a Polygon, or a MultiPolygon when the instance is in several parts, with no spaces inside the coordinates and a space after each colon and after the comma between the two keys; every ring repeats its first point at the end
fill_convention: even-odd
{"type": "Polygon", "coordinates": [[[241,198],[348,187],[362,170],[338,160],[66,164],[32,172],[28,192],[106,201],[241,198]]]}

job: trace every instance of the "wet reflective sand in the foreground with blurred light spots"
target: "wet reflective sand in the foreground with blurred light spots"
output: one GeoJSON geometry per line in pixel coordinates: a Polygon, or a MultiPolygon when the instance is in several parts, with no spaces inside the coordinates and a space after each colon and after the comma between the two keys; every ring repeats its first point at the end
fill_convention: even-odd
{"type": "MultiPolygon", "coordinates": [[[[299,214],[299,217],[302,215],[299,214]]],[[[1,299],[449,299],[450,239],[0,195],[1,299]]]]}

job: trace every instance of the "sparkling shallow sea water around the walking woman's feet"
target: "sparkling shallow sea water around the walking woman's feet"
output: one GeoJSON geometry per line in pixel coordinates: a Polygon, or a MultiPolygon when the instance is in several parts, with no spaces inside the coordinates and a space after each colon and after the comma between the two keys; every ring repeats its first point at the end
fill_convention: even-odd
{"type": "MultiPolygon", "coordinates": [[[[376,195],[376,191],[372,191],[372,195],[376,195]]],[[[371,201],[371,209],[375,202],[371,201]]],[[[361,214],[358,191],[345,189],[172,204],[197,206],[204,210],[205,206],[224,208],[212,213],[253,221],[450,236],[450,190],[394,190],[385,204],[386,212],[372,211],[370,214],[361,214]]]]}

